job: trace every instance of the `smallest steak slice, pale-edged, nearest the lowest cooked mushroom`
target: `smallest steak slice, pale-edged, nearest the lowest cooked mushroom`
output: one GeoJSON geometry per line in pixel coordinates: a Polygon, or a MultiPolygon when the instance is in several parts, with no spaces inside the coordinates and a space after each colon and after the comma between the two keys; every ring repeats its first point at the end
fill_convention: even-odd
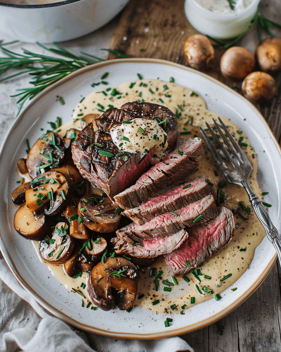
{"type": "Polygon", "coordinates": [[[177,249],[188,237],[188,233],[182,229],[175,234],[164,238],[150,238],[142,240],[141,245],[131,245],[118,237],[112,238],[117,254],[129,254],[132,257],[158,257],[168,254],[177,249]]]}

